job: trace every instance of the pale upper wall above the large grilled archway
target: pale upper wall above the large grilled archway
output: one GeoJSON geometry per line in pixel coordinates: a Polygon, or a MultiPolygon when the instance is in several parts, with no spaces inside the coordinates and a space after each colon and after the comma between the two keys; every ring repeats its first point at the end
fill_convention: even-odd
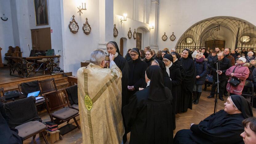
{"type": "MultiPolygon", "coordinates": [[[[251,0],[159,0],[158,10],[158,46],[159,50],[165,47],[174,48],[182,34],[195,23],[216,16],[230,16],[243,19],[256,26],[253,14],[256,1],[251,0]],[[168,40],[162,40],[166,32],[168,40]],[[174,32],[175,41],[170,41],[174,32]]],[[[233,45],[234,49],[234,45],[233,45]]]]}

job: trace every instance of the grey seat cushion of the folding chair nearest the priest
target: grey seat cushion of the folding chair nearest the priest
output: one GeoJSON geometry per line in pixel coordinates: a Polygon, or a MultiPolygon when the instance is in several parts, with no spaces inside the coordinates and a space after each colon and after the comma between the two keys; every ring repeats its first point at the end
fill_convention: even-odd
{"type": "Polygon", "coordinates": [[[54,116],[55,118],[59,118],[61,120],[66,120],[76,114],[78,114],[78,110],[65,107],[60,110],[54,111],[52,113],[52,116],[54,116]]]}

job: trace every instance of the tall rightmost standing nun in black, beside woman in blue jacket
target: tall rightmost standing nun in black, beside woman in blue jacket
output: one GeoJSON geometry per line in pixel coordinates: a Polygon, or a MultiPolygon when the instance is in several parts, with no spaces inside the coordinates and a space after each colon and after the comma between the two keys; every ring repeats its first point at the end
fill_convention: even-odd
{"type": "Polygon", "coordinates": [[[181,105],[177,108],[177,112],[186,112],[187,109],[192,110],[192,92],[196,77],[195,63],[189,49],[184,49],[181,58],[182,66],[185,70],[185,78],[181,83],[181,105]]]}

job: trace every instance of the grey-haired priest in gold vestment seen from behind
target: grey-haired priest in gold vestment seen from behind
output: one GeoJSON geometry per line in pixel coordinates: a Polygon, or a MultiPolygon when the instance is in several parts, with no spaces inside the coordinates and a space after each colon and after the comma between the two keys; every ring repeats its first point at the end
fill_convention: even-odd
{"type": "Polygon", "coordinates": [[[110,69],[106,69],[105,52],[94,50],[90,64],[77,71],[83,143],[122,142],[122,72],[113,54],[109,59],[110,69]]]}

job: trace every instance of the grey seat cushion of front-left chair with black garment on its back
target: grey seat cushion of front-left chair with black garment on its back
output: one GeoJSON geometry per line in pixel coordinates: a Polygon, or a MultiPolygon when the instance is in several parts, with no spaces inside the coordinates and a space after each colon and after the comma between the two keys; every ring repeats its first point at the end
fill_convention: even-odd
{"type": "Polygon", "coordinates": [[[31,134],[37,134],[39,131],[46,129],[46,125],[44,125],[42,122],[30,121],[16,126],[15,129],[19,131],[20,137],[26,138],[31,134]]]}

